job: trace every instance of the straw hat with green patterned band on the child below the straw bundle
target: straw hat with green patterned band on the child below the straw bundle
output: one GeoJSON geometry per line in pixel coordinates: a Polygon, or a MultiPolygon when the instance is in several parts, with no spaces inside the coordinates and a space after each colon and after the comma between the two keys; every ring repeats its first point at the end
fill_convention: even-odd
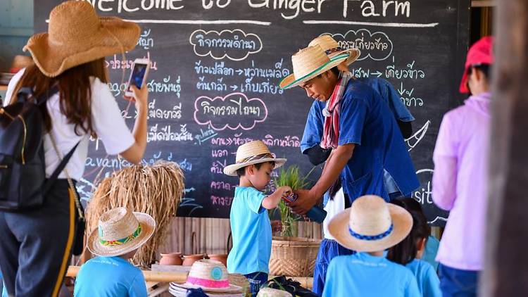
{"type": "Polygon", "coordinates": [[[156,221],[146,213],[113,208],[99,218],[99,228],[88,237],[88,249],[94,255],[113,257],[136,250],[148,241],[156,221]]]}

